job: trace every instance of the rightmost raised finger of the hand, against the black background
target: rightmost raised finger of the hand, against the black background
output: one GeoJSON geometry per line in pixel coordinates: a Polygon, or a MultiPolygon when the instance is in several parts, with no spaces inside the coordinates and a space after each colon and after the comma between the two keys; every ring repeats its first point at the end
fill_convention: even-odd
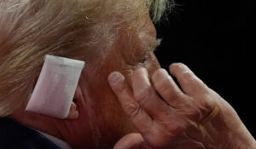
{"type": "Polygon", "coordinates": [[[170,72],[177,78],[183,91],[188,95],[198,95],[207,93],[207,86],[195,74],[190,71],[188,66],[182,63],[174,63],[170,67],[170,72]]]}

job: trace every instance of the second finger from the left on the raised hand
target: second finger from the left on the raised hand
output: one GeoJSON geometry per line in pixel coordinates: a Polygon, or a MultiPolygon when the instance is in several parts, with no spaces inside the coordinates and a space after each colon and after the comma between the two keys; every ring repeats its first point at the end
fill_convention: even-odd
{"type": "Polygon", "coordinates": [[[154,118],[165,117],[170,107],[155,93],[145,68],[139,68],[132,74],[131,83],[134,97],[140,106],[154,118]]]}

